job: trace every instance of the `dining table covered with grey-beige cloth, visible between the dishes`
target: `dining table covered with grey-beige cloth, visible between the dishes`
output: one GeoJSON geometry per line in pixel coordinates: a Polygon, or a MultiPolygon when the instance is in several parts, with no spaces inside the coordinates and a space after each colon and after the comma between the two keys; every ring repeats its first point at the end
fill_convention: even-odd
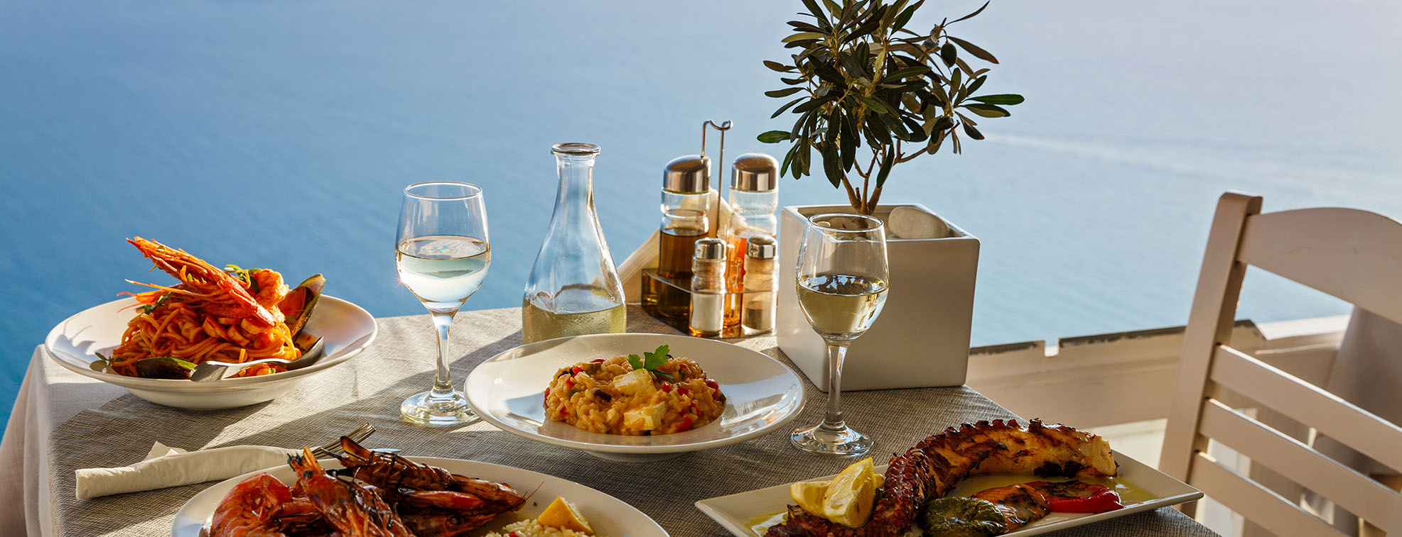
{"type": "MultiPolygon", "coordinates": [[[[637,306],[629,308],[629,333],[676,333],[637,306]]],[[[36,347],[0,442],[0,467],[7,477],[0,480],[0,534],[167,536],[175,512],[213,482],[77,499],[74,471],[130,466],[146,456],[153,442],[188,450],[300,448],[325,443],[365,422],[377,428],[365,442],[370,448],[488,461],[576,481],[638,508],[676,537],[729,534],[694,506],[698,499],[810,480],[851,463],[789,445],[792,427],[817,422],[823,415],[826,394],[808,379],[803,410],[789,425],[747,442],[651,463],[608,461],[481,421],[458,428],[412,425],[400,420],[398,406],[432,383],[432,323],[426,316],[376,322],[379,336],[362,354],[307,378],[276,400],[231,410],[192,411],[147,403],[125,389],[60,368],[42,345],[36,347]]],[[[792,368],[771,336],[728,341],[792,368]]],[[[475,365],[520,343],[519,308],[458,313],[451,336],[454,380],[461,383],[475,365]]],[[[872,454],[878,464],[951,425],[1018,418],[969,386],[852,392],[843,394],[843,406],[847,422],[875,439],[872,454]]],[[[1216,533],[1172,508],[1161,508],[1057,534],[1216,533]]]]}

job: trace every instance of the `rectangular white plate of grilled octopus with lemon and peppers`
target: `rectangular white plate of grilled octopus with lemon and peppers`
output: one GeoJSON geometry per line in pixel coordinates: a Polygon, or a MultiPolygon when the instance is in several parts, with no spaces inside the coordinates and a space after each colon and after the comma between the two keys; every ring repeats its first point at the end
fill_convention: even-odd
{"type": "Polygon", "coordinates": [[[1202,498],[1109,442],[1032,420],[931,435],[886,466],[702,499],[742,537],[1036,536],[1202,498]]]}

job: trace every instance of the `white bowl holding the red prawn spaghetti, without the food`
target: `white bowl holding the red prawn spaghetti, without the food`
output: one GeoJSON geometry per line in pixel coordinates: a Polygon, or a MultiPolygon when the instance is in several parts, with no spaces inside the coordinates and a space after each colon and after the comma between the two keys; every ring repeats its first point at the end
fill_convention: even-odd
{"type": "Polygon", "coordinates": [[[67,371],[122,386],[136,397],[177,408],[237,408],[273,400],[303,379],[342,364],[374,341],[376,324],[369,312],[335,296],[321,295],[306,331],[325,341],[325,357],[301,369],[216,382],[142,379],[107,369],[95,352],[108,355],[122,341],[137,302],[123,298],[84,309],[49,331],[43,347],[67,371]]]}

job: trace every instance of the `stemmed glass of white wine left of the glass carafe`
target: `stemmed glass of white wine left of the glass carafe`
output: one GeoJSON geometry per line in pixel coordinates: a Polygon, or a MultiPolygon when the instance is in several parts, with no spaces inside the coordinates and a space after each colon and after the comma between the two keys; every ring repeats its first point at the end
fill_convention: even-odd
{"type": "Polygon", "coordinates": [[[394,259],[400,281],[423,302],[437,330],[433,389],[404,400],[400,417],[421,425],[467,425],[481,418],[453,389],[447,336],[468,296],[482,287],[492,262],[486,207],[477,185],[432,180],[404,187],[394,259]]]}

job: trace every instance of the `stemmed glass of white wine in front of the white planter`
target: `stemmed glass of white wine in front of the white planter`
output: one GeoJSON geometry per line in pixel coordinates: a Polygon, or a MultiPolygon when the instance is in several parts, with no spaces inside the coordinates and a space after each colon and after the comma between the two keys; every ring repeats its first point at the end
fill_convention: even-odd
{"type": "Polygon", "coordinates": [[[886,305],[889,277],[880,220],[855,214],[808,220],[795,285],[803,316],[827,343],[827,414],[822,424],[794,431],[789,439],[798,449],[836,456],[871,452],[871,436],[843,422],[843,361],[886,305]]]}

